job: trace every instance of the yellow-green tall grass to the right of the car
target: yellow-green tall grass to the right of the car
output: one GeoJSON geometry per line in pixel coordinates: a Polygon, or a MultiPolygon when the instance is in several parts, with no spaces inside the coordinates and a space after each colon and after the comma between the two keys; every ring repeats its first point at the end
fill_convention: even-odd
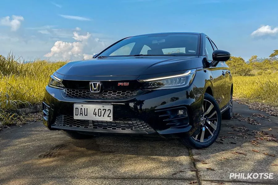
{"type": "Polygon", "coordinates": [[[278,105],[278,73],[234,76],[234,97],[278,105]]]}

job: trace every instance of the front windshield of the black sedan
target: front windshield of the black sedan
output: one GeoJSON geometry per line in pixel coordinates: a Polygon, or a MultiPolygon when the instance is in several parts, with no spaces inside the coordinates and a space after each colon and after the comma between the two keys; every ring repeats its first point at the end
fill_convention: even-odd
{"type": "Polygon", "coordinates": [[[157,55],[198,56],[200,35],[155,34],[128,37],[103,51],[98,57],[157,55]]]}

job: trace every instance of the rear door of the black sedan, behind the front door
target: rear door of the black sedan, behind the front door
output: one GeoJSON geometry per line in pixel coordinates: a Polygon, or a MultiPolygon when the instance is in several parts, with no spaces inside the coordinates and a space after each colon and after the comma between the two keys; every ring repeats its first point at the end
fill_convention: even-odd
{"type": "MultiPolygon", "coordinates": [[[[215,45],[215,43],[209,39],[211,44],[213,45],[213,49],[216,50],[218,49],[217,46],[215,45]]],[[[230,72],[230,68],[229,66],[225,63],[225,62],[219,62],[218,63],[218,67],[221,67],[222,70],[222,75],[225,77],[225,91],[223,92],[224,94],[224,106],[227,105],[230,101],[230,95],[231,95],[231,85],[232,85],[232,75],[230,72]]],[[[225,107],[224,107],[225,108],[225,107]]]]}

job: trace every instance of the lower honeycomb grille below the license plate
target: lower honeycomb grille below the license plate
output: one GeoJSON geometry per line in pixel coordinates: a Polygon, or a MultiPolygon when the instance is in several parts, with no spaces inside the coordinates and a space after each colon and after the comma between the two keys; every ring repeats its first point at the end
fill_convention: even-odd
{"type": "Polygon", "coordinates": [[[127,118],[114,121],[91,121],[91,120],[75,120],[73,116],[59,115],[52,126],[65,126],[73,128],[91,128],[102,130],[132,130],[145,131],[146,133],[155,132],[149,124],[136,118],[127,118]]]}

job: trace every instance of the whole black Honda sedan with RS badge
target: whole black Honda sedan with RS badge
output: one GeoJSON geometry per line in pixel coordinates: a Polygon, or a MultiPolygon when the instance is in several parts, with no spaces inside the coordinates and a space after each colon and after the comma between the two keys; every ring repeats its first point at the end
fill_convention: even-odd
{"type": "Polygon", "coordinates": [[[208,147],[232,114],[229,59],[204,33],[121,39],[51,75],[44,125],[76,139],[140,134],[208,147]]]}

